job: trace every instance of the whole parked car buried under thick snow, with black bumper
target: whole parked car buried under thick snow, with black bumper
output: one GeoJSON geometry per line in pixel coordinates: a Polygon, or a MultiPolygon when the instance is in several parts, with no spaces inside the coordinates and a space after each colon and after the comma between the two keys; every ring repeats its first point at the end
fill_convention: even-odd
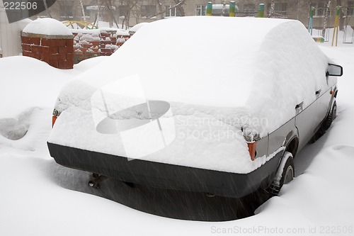
{"type": "Polygon", "coordinates": [[[342,73],[299,21],[156,21],[64,86],[47,144],[93,186],[276,194],[336,116],[342,73]]]}

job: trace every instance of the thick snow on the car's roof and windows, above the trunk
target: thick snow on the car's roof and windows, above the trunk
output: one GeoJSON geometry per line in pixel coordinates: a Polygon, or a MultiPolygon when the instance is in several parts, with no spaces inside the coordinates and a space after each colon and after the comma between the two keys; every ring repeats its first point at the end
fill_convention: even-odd
{"type": "Polygon", "coordinates": [[[149,100],[246,108],[272,121],[265,135],[314,101],[326,66],[299,21],[190,16],[147,24],[79,79],[100,88],[135,77],[149,100]]]}

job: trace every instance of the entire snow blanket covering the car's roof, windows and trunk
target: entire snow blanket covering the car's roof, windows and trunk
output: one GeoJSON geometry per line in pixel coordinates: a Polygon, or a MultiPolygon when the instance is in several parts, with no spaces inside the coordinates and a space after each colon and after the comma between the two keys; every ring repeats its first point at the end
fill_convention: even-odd
{"type": "Polygon", "coordinates": [[[241,128],[264,137],[290,120],[325,88],[326,66],[298,21],[156,21],[62,90],[50,142],[251,172],[271,154],[251,162],[241,128]]]}

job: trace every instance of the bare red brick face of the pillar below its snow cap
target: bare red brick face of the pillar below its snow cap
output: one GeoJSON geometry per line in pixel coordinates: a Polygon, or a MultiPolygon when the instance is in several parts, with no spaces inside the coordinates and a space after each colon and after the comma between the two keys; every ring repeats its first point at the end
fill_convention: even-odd
{"type": "Polygon", "coordinates": [[[23,56],[47,62],[58,69],[74,67],[74,37],[72,35],[40,35],[21,33],[23,56]]]}

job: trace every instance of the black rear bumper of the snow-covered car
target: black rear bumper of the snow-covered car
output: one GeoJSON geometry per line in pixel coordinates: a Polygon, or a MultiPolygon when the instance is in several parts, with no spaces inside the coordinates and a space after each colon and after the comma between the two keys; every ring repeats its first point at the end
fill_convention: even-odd
{"type": "Polygon", "coordinates": [[[214,193],[217,196],[240,198],[266,186],[273,180],[281,152],[248,174],[219,172],[210,169],[184,167],[174,164],[149,162],[141,159],[101,152],[81,150],[47,142],[50,155],[58,164],[81,169],[144,186],[214,193]]]}

